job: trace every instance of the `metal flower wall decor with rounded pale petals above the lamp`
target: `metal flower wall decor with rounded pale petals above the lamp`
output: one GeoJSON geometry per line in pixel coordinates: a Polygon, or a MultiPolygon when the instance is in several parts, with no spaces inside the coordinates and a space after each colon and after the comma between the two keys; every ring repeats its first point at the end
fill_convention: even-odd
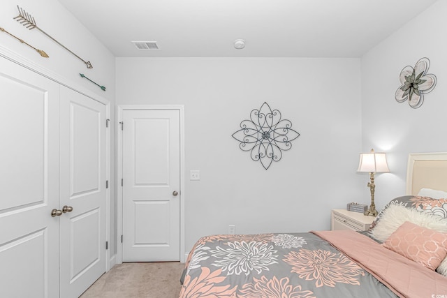
{"type": "Polygon", "coordinates": [[[429,93],[436,86],[436,76],[427,73],[430,60],[422,58],[413,67],[405,66],[400,72],[402,85],[396,90],[397,102],[408,100],[410,107],[417,109],[424,103],[424,94],[429,93]]]}

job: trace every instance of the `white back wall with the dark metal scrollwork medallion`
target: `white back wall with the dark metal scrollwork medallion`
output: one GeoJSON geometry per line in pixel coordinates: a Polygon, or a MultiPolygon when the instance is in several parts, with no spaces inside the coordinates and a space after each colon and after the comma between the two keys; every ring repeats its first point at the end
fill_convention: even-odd
{"type": "Polygon", "coordinates": [[[365,194],[360,59],[117,58],[117,105],[184,104],[186,251],[207,234],[330,228],[365,194]],[[301,135],[264,170],[231,135],[264,102],[301,135]]]}

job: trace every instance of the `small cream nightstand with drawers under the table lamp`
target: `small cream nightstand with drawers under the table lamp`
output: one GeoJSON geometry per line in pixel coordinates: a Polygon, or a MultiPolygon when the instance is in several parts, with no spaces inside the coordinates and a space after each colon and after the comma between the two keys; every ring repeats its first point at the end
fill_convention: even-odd
{"type": "Polygon", "coordinates": [[[374,216],[366,216],[360,212],[332,209],[330,216],[331,230],[366,231],[374,218],[374,216]]]}

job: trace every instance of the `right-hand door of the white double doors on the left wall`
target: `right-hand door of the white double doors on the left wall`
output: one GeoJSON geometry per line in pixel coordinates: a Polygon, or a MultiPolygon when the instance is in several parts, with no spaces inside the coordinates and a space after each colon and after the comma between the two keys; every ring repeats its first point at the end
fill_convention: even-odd
{"type": "Polygon", "coordinates": [[[61,297],[79,297],[105,272],[105,105],[61,87],[61,297]]]}

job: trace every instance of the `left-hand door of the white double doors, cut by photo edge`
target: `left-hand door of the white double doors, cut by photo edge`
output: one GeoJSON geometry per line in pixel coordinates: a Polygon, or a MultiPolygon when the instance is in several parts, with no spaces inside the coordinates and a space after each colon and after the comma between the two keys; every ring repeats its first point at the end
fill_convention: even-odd
{"type": "Polygon", "coordinates": [[[0,296],[59,297],[59,85],[0,57],[0,296]]]}

